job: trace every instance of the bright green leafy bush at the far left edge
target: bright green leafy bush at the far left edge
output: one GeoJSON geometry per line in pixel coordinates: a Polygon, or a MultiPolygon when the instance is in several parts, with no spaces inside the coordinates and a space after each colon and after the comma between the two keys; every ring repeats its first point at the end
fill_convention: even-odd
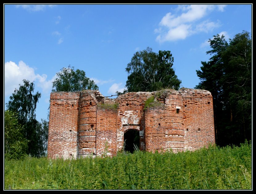
{"type": "Polygon", "coordinates": [[[4,114],[4,156],[19,160],[27,155],[28,140],[23,135],[23,126],[17,115],[9,110],[4,114]]]}

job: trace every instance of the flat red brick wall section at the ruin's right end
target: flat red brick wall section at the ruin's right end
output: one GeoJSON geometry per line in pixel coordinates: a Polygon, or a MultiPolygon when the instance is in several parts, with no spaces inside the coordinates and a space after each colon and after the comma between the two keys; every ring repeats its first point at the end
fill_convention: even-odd
{"type": "Polygon", "coordinates": [[[215,143],[213,98],[209,91],[181,90],[185,129],[185,148],[194,151],[215,143]]]}

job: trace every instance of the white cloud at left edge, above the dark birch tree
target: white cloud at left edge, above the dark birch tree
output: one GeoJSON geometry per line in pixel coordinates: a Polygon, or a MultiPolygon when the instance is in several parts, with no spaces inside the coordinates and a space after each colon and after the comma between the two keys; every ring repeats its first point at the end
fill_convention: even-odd
{"type": "Polygon", "coordinates": [[[42,88],[43,92],[48,92],[52,88],[52,81],[55,77],[47,80],[47,75],[35,74],[34,69],[26,65],[23,61],[19,61],[18,65],[12,61],[6,62],[4,64],[5,96],[14,92],[15,88],[18,89],[19,84],[23,84],[23,79],[27,79],[30,82],[35,81],[35,84],[42,88]]]}

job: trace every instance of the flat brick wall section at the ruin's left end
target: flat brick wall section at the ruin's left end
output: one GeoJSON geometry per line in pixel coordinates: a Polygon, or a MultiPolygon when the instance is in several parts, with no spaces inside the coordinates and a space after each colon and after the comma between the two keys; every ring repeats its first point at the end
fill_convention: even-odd
{"type": "Polygon", "coordinates": [[[77,157],[77,120],[80,92],[55,92],[50,96],[48,157],[77,157]]]}

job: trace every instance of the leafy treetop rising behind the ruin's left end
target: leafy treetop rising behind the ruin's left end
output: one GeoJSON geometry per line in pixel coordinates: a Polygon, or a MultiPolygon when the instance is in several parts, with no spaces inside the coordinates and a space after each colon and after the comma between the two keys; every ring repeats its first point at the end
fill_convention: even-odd
{"type": "Polygon", "coordinates": [[[55,91],[82,91],[82,90],[98,90],[99,87],[85,76],[85,71],[74,70],[74,67],[63,67],[57,73],[57,78],[52,82],[52,92],[55,91]]]}

